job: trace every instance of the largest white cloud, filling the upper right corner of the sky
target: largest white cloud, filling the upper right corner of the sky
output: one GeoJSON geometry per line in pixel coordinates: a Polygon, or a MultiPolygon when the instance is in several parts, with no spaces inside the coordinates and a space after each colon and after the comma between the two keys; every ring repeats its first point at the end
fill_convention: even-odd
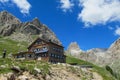
{"type": "Polygon", "coordinates": [[[106,24],[120,21],[119,0],[79,0],[83,7],[78,15],[85,25],[106,24]]]}

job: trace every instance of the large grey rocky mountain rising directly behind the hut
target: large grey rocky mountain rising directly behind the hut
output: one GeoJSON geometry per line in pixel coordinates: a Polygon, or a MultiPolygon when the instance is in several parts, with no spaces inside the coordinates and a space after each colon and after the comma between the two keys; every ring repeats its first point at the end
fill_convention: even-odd
{"type": "Polygon", "coordinates": [[[32,42],[33,37],[41,37],[61,45],[56,35],[38,18],[30,22],[21,22],[7,11],[0,12],[0,35],[13,40],[32,42]]]}

